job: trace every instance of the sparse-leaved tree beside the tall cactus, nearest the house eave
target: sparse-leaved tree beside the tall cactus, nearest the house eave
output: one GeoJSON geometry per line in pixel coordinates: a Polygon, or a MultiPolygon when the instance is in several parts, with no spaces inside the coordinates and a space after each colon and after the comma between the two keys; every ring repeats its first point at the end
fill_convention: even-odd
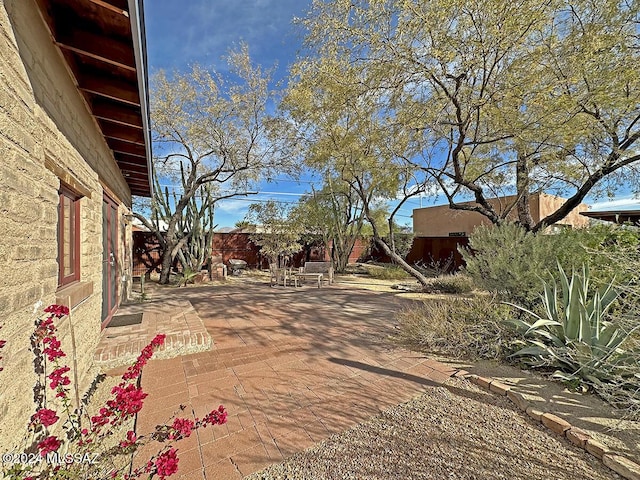
{"type": "Polygon", "coordinates": [[[226,76],[196,65],[171,77],[159,72],[152,80],[155,169],[163,181],[180,182],[175,198],[169,200],[160,188],[152,199],[152,212],[166,225],[137,214],[162,247],[160,283],[168,283],[179,252],[186,263],[194,260],[188,260],[188,252],[195,259],[206,255],[196,252],[203,237],[199,247],[197,242],[187,246],[200,233],[183,229],[210,230],[217,200],[247,195],[268,171],[289,166],[291,152],[276,140],[278,122],[267,114],[274,99],[270,73],[252,64],[246,45],[232,51],[228,63],[226,76]]]}

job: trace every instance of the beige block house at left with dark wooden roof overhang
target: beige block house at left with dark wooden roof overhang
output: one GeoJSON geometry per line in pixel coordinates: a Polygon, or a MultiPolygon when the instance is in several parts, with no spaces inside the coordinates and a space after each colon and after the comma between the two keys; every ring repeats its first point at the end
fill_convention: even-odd
{"type": "Polygon", "coordinates": [[[36,315],[52,303],[71,309],[59,338],[82,395],[101,327],[126,298],[132,195],[151,195],[141,6],[0,2],[3,452],[34,413],[36,315]]]}

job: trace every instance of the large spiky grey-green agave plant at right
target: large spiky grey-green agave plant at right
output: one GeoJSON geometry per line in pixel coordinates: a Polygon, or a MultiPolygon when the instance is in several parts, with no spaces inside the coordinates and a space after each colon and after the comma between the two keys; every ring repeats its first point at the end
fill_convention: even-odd
{"type": "Polygon", "coordinates": [[[633,357],[621,347],[633,330],[625,332],[607,320],[607,312],[619,296],[613,281],[588,298],[587,267],[583,266],[582,274],[574,272],[571,279],[559,264],[558,268],[560,289],[555,280],[543,282],[546,318],[510,304],[535,319],[533,323],[510,321],[524,333],[527,344],[511,357],[525,357],[533,367],[557,368],[554,375],[567,381],[597,384],[624,374],[623,367],[633,357]]]}

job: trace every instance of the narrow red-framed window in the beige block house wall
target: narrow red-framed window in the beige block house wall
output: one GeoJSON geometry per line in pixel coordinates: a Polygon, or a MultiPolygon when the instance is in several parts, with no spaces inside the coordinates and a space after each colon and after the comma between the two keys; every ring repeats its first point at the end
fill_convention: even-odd
{"type": "Polygon", "coordinates": [[[58,285],[80,280],[80,197],[60,189],[58,205],[58,285]]]}

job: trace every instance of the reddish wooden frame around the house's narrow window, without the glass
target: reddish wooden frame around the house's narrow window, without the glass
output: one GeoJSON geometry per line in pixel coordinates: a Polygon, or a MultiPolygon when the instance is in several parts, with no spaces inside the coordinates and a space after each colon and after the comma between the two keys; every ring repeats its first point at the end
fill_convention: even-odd
{"type": "Polygon", "coordinates": [[[73,190],[62,185],[58,191],[58,287],[64,287],[80,280],[80,198],[73,190]],[[64,221],[65,199],[71,202],[70,210],[73,218],[71,226],[73,232],[67,231],[64,221]],[[64,243],[67,236],[71,236],[71,267],[72,271],[68,275],[64,273],[64,243]]]}

